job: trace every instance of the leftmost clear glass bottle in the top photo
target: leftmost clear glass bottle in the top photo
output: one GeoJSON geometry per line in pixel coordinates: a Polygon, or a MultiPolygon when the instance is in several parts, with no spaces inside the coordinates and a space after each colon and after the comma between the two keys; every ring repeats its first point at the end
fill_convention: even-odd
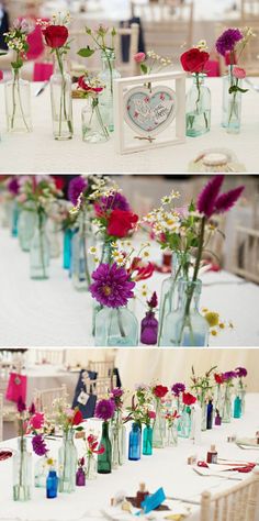
{"type": "Polygon", "coordinates": [[[8,132],[32,132],[30,81],[19,70],[5,82],[5,112],[8,132]]]}

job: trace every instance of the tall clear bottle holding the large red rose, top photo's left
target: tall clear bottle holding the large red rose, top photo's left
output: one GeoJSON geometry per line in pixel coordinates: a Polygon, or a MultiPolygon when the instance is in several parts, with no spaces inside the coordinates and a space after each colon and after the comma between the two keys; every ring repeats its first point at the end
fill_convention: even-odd
{"type": "Polygon", "coordinates": [[[66,73],[61,59],[56,65],[49,85],[54,137],[57,141],[71,140],[74,134],[71,78],[66,73]]]}

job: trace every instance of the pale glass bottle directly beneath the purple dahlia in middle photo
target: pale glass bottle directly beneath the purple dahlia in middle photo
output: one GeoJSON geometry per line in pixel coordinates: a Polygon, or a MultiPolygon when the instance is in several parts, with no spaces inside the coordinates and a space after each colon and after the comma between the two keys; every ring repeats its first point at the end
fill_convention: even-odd
{"type": "Polygon", "coordinates": [[[95,346],[136,346],[138,322],[127,308],[103,308],[95,317],[95,346]]]}

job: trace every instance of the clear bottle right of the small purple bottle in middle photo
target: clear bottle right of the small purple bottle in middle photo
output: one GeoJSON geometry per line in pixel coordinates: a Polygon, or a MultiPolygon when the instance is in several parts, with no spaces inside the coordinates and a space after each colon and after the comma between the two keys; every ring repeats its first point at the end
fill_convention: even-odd
{"type": "Polygon", "coordinates": [[[178,308],[166,317],[162,346],[207,346],[209,324],[199,312],[201,290],[201,280],[180,279],[178,308]]]}

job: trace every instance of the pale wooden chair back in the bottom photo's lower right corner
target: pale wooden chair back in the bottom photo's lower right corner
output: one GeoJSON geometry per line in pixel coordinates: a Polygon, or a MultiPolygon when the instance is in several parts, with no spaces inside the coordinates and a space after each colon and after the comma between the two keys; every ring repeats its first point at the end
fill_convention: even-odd
{"type": "Polygon", "coordinates": [[[202,492],[200,521],[256,521],[259,497],[259,469],[248,479],[214,496],[202,492]]]}

